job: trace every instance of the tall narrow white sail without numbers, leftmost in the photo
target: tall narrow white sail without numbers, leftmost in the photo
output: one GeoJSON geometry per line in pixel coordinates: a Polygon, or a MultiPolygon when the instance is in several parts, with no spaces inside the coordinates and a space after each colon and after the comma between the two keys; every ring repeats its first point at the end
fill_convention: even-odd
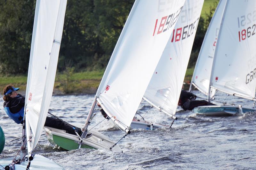
{"type": "Polygon", "coordinates": [[[36,1],[25,101],[28,152],[36,147],[50,106],[66,4],[66,0],[36,1]]]}

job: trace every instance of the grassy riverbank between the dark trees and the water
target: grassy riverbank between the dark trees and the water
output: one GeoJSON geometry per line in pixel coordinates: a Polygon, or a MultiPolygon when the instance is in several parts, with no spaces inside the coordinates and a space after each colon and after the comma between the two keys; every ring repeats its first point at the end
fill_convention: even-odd
{"type": "MultiPolygon", "coordinates": [[[[190,83],[194,68],[189,68],[186,72],[184,79],[185,83],[190,83]]],[[[57,72],[53,95],[62,94],[95,94],[101,78],[104,74],[104,70],[99,71],[83,71],[74,72],[72,68],[68,68],[64,72],[57,72]]],[[[8,84],[13,84],[15,87],[20,88],[20,93],[25,94],[27,86],[27,75],[0,75],[0,89],[1,94],[4,87],[8,84]]],[[[189,85],[185,85],[187,89],[189,85]]]]}

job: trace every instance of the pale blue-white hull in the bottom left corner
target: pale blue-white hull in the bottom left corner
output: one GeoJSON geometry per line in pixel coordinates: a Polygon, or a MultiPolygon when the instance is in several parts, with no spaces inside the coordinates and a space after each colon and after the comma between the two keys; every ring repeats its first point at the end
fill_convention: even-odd
{"type": "MultiPolygon", "coordinates": [[[[12,163],[13,158],[1,159],[0,165],[5,167],[12,163]]],[[[28,161],[23,161],[21,164],[15,164],[15,170],[24,170],[27,168],[28,161]]],[[[1,168],[2,169],[2,168],[1,168]]],[[[35,155],[34,159],[30,163],[30,170],[60,170],[63,169],[60,165],[53,160],[45,158],[41,155],[35,155]]]]}

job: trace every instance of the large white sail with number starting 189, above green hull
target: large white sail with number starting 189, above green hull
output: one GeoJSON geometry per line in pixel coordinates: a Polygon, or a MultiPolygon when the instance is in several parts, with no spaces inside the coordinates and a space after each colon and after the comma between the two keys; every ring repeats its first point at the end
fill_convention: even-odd
{"type": "Polygon", "coordinates": [[[129,126],[184,1],[135,1],[96,96],[106,113],[129,126]]]}

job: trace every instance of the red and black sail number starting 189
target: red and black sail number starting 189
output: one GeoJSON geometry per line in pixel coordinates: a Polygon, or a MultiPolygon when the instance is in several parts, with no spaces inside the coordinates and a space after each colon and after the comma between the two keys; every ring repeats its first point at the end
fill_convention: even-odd
{"type": "Polygon", "coordinates": [[[175,22],[179,18],[179,15],[180,15],[180,12],[181,12],[182,8],[183,8],[183,6],[180,7],[180,9],[177,12],[174,12],[169,16],[162,17],[160,22],[158,22],[158,19],[156,19],[156,24],[155,24],[153,36],[155,35],[155,33],[156,34],[163,33],[167,30],[167,28],[169,29],[170,27],[172,27],[173,24],[175,24],[175,22]],[[157,27],[158,27],[158,29],[157,29],[157,27]]]}

